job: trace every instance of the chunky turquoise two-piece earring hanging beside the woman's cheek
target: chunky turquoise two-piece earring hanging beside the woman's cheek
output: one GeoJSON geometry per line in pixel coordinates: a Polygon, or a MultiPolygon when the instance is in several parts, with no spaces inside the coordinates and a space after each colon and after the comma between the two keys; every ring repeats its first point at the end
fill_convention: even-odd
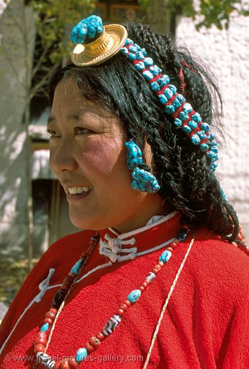
{"type": "Polygon", "coordinates": [[[152,173],[138,166],[143,163],[142,152],[138,145],[131,139],[125,144],[127,150],[127,167],[132,170],[131,187],[140,192],[154,193],[160,190],[159,183],[152,173]]]}

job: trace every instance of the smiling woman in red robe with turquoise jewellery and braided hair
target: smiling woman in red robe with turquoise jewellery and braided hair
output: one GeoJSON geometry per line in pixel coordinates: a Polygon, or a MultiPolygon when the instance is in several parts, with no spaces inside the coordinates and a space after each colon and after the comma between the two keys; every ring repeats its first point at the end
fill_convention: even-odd
{"type": "Polygon", "coordinates": [[[22,285],[1,368],[248,367],[248,247],[214,175],[215,84],[142,24],[90,16],[71,39],[50,84],[50,165],[85,231],[22,285]]]}

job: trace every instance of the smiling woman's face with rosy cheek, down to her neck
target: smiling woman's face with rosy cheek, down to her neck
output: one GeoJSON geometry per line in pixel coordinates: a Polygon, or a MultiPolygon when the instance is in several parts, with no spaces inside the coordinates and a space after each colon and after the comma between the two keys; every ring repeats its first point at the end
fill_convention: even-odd
{"type": "Polygon", "coordinates": [[[127,139],[119,117],[84,98],[72,78],[60,81],[55,89],[48,131],[50,165],[64,188],[76,227],[126,232],[163,213],[159,195],[130,186],[127,139]]]}

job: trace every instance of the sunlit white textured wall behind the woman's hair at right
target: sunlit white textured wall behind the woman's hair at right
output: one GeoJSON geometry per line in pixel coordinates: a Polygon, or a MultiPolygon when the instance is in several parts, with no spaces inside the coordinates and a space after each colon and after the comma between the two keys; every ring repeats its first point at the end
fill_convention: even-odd
{"type": "Polygon", "coordinates": [[[217,177],[235,207],[249,240],[249,17],[233,15],[229,30],[197,32],[192,20],[180,18],[176,37],[201,56],[218,79],[224,100],[225,146],[217,177]]]}

